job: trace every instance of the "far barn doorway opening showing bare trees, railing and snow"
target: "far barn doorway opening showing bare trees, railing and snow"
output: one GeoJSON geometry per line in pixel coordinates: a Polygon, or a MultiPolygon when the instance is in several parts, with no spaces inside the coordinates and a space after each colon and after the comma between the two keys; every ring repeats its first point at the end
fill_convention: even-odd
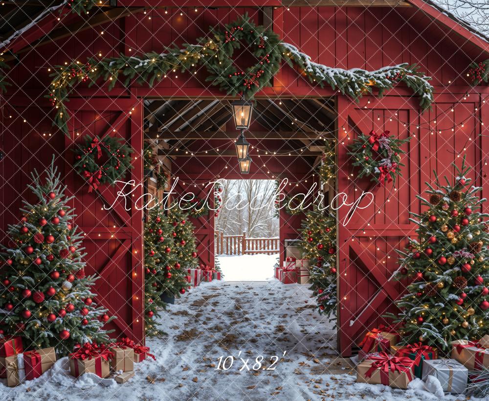
{"type": "Polygon", "coordinates": [[[267,281],[280,256],[275,180],[221,180],[222,208],[214,218],[216,264],[226,281],[267,281]]]}

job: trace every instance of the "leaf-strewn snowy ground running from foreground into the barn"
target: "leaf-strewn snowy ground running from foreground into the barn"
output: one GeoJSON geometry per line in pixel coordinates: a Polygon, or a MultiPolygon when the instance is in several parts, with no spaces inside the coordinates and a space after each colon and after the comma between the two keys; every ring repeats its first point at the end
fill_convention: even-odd
{"type": "Polygon", "coordinates": [[[305,285],[277,280],[203,283],[162,314],[161,327],[168,335],[147,341],[156,361],[135,364],[129,382],[105,380],[108,387],[103,387],[93,377],[75,381],[64,358],[38,379],[15,388],[0,385],[0,400],[436,399],[422,390],[356,384],[355,370],[333,351],[335,330],[314,310],[309,295],[305,285]],[[240,357],[250,359],[250,372],[240,371],[240,351],[240,357]],[[271,355],[282,357],[284,351],[275,370],[263,369],[270,366],[271,355]],[[235,357],[227,371],[216,370],[221,355],[235,357]],[[258,355],[265,360],[253,371],[258,355]]]}

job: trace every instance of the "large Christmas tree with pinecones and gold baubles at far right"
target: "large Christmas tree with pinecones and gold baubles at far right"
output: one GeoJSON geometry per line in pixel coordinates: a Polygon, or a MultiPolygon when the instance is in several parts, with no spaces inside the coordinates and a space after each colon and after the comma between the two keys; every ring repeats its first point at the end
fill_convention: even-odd
{"type": "Polygon", "coordinates": [[[442,185],[435,174],[435,187],[426,183],[428,199],[418,196],[427,211],[412,213],[418,240],[400,252],[397,273],[411,282],[396,302],[396,321],[405,324],[403,341],[424,341],[445,351],[450,341],[478,340],[489,332],[489,225],[488,214],[480,212],[485,199],[476,195],[482,188],[470,185],[465,158],[461,168],[453,165],[453,182],[445,177],[442,185]]]}

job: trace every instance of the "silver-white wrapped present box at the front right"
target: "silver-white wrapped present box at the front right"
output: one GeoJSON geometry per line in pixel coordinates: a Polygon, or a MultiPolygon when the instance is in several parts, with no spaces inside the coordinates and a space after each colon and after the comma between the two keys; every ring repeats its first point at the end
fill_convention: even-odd
{"type": "Polygon", "coordinates": [[[445,393],[462,394],[467,388],[468,369],[455,359],[426,359],[422,379],[434,376],[440,380],[445,393]]]}

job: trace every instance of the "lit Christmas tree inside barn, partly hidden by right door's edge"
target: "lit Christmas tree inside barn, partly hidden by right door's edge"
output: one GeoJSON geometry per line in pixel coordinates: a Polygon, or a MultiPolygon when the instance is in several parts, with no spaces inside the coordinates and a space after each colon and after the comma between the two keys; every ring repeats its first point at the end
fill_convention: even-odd
{"type": "Polygon", "coordinates": [[[302,258],[310,259],[310,289],[319,313],[336,316],[336,218],[318,211],[306,213],[302,221],[302,258]]]}

